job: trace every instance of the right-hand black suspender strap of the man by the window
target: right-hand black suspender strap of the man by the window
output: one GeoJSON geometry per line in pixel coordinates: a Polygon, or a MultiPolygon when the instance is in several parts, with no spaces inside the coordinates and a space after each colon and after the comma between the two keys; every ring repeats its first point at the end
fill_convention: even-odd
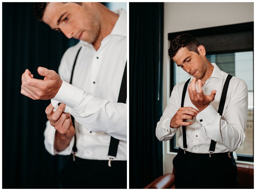
{"type": "MultiPolygon", "coordinates": [[[[227,76],[226,81],[223,86],[223,89],[222,89],[222,93],[221,93],[221,97],[220,97],[220,104],[219,104],[219,108],[218,108],[218,113],[220,114],[220,116],[222,116],[222,113],[224,110],[224,105],[226,102],[226,97],[227,97],[227,92],[228,92],[228,86],[229,86],[230,79],[232,77],[233,76],[231,76],[230,74],[227,76]]],[[[215,146],[216,146],[216,141],[211,140],[211,144],[210,144],[210,148],[209,148],[210,153],[215,151],[215,146]]]]}

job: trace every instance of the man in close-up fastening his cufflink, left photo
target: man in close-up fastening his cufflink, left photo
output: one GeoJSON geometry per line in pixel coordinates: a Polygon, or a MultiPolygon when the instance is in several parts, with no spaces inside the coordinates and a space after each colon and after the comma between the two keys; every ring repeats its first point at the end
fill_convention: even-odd
{"type": "Polygon", "coordinates": [[[52,99],[45,111],[47,151],[74,155],[61,172],[61,184],[126,188],[127,106],[126,94],[121,95],[126,91],[126,12],[95,2],[37,3],[34,12],[53,30],[80,39],[63,55],[60,76],[43,67],[38,73],[44,80],[28,69],[22,75],[22,94],[52,99]]]}

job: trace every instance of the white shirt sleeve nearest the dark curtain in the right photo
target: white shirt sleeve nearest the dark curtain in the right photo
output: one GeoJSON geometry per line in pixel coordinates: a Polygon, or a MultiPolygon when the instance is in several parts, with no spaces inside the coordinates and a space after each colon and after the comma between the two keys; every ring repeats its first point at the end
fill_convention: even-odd
{"type": "Polygon", "coordinates": [[[176,95],[177,85],[174,86],[171,97],[169,98],[169,103],[165,108],[162,117],[156,125],[156,137],[159,141],[170,140],[174,134],[179,130],[179,128],[171,128],[170,122],[172,117],[179,110],[178,99],[176,95]]]}

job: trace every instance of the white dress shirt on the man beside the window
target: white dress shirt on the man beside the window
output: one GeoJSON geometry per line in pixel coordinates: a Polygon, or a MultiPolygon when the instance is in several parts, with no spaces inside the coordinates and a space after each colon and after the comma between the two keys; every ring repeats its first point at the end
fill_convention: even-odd
{"type": "MultiPolygon", "coordinates": [[[[221,71],[215,63],[211,77],[205,82],[202,91],[210,95],[217,90],[214,101],[202,110],[193,120],[192,125],[186,126],[187,151],[193,153],[209,153],[211,139],[216,141],[215,153],[237,150],[245,138],[245,126],[248,112],[248,89],[243,80],[232,77],[229,83],[227,98],[222,117],[217,113],[220,97],[228,74],[221,71]],[[200,121],[201,120],[201,121],[200,121]]],[[[192,77],[190,79],[190,82],[192,77]]],[[[182,126],[171,128],[170,121],[181,106],[183,87],[186,81],[174,86],[169,104],[164,110],[163,116],[157,123],[156,137],[160,141],[170,140],[179,130],[178,145],[183,148],[182,126]]],[[[189,82],[189,84],[190,84],[189,82]]],[[[197,83],[196,83],[197,84],[197,83]]],[[[196,85],[197,87],[197,85],[196,85]]],[[[186,92],[184,107],[197,109],[186,92]]],[[[198,109],[197,109],[198,110],[198,109]]]]}

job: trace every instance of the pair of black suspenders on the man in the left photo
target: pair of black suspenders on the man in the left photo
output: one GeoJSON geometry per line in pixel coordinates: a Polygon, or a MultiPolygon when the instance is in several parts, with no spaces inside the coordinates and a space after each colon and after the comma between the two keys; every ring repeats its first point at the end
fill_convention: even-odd
{"type": "MultiPolygon", "coordinates": [[[[79,54],[81,48],[82,47],[80,47],[80,49],[78,50],[77,55],[76,55],[76,59],[74,60],[74,64],[73,64],[73,68],[72,68],[72,72],[71,72],[70,84],[72,84],[74,68],[75,68],[75,65],[76,65],[76,62],[77,62],[77,57],[78,57],[78,54],[79,54]]],[[[126,97],[127,97],[127,61],[126,61],[126,64],[125,64],[124,74],[123,74],[121,87],[120,87],[120,91],[119,91],[118,103],[126,103],[126,97]]],[[[72,119],[73,126],[75,127],[74,117],[71,116],[71,119],[72,119]]],[[[113,159],[116,158],[116,153],[117,153],[117,150],[118,150],[118,144],[119,144],[118,139],[115,139],[114,137],[110,138],[109,152],[108,152],[108,156],[110,158],[109,166],[111,166],[111,161],[113,161],[113,159]]],[[[72,151],[74,153],[73,154],[73,157],[74,157],[75,153],[77,152],[76,135],[74,137],[74,146],[72,148],[72,151]]]]}

